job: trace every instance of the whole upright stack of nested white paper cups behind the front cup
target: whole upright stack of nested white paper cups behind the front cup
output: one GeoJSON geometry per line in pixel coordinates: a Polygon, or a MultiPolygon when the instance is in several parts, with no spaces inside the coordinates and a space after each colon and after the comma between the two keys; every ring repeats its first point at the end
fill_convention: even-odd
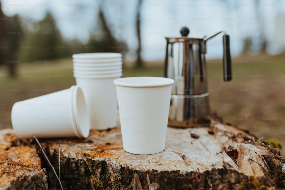
{"type": "Polygon", "coordinates": [[[73,73],[83,91],[91,130],[117,126],[117,93],[113,84],[122,76],[122,54],[74,54],[73,73]]]}

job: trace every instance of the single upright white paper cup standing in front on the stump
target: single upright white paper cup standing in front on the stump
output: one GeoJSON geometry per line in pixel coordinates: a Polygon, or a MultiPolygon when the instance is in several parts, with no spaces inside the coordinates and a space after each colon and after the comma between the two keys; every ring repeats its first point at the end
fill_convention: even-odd
{"type": "Polygon", "coordinates": [[[114,80],[125,151],[155,154],[164,150],[173,83],[163,77],[114,80]]]}

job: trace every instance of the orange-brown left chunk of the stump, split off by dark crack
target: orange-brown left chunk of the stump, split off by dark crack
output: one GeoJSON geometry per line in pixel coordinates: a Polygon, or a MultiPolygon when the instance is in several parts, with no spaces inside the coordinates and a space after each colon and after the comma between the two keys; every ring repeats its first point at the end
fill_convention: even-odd
{"type": "Polygon", "coordinates": [[[47,189],[46,169],[42,169],[35,146],[25,146],[13,130],[0,130],[0,189],[47,189]]]}

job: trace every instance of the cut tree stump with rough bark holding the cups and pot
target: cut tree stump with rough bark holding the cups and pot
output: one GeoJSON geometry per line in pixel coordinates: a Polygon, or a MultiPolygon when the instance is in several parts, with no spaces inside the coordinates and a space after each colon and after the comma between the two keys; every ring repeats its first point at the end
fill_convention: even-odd
{"type": "MultiPolygon", "coordinates": [[[[13,130],[2,130],[0,140],[0,189],[59,189],[32,139],[19,141],[13,130]]],[[[168,127],[165,150],[152,155],[125,152],[119,127],[91,131],[86,139],[40,139],[57,172],[59,140],[64,189],[285,188],[278,149],[215,120],[203,127],[168,127]]]]}

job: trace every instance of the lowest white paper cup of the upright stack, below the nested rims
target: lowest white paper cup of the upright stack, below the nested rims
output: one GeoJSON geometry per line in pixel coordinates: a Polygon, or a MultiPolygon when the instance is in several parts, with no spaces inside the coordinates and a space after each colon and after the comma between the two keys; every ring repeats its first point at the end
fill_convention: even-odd
{"type": "Polygon", "coordinates": [[[113,81],[119,77],[76,77],[76,84],[86,99],[91,130],[106,130],[117,126],[117,93],[113,81]]]}

